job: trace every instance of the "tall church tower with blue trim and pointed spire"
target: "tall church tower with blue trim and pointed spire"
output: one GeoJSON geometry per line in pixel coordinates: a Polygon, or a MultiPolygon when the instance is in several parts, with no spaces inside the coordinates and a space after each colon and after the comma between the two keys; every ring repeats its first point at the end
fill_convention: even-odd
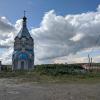
{"type": "Polygon", "coordinates": [[[33,68],[34,68],[34,40],[27,29],[27,18],[24,15],[22,28],[14,39],[12,69],[31,70],[33,68]]]}

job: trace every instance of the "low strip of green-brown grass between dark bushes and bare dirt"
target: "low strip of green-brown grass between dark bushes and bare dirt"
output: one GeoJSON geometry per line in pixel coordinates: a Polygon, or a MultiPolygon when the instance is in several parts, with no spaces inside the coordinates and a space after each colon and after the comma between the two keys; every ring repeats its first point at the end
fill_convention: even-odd
{"type": "Polygon", "coordinates": [[[18,82],[37,83],[100,83],[100,73],[49,75],[36,71],[1,72],[0,78],[17,78],[18,82]]]}

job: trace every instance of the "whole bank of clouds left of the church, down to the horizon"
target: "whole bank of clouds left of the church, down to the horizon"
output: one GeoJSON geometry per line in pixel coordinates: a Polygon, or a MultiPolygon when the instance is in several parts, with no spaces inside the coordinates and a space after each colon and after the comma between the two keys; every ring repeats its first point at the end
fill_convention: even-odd
{"type": "Polygon", "coordinates": [[[0,60],[11,64],[11,55],[16,28],[6,17],[0,17],[0,60]]]}

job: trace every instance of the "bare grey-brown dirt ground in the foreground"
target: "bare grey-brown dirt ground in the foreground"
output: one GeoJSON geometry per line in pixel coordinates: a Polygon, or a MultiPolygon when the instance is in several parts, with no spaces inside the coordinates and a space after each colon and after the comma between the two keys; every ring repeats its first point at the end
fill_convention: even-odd
{"type": "Polygon", "coordinates": [[[100,100],[100,84],[16,84],[14,79],[0,79],[0,100],[100,100]]]}

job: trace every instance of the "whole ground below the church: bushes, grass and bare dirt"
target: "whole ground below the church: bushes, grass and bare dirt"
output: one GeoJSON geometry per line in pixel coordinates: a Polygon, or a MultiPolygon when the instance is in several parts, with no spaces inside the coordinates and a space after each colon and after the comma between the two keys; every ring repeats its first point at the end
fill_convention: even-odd
{"type": "Polygon", "coordinates": [[[99,94],[99,72],[80,73],[49,66],[0,73],[0,100],[100,100],[99,94]]]}

